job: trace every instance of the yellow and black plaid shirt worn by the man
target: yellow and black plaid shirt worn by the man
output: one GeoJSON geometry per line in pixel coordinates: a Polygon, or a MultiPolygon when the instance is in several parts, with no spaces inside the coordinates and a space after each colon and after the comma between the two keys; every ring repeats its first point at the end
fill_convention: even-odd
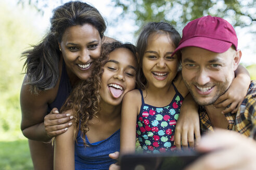
{"type": "MultiPolygon", "coordinates": [[[[252,80],[247,95],[237,113],[225,114],[228,130],[237,131],[256,140],[256,80],[252,80]]],[[[201,133],[213,132],[210,119],[203,106],[199,107],[201,133]]]]}

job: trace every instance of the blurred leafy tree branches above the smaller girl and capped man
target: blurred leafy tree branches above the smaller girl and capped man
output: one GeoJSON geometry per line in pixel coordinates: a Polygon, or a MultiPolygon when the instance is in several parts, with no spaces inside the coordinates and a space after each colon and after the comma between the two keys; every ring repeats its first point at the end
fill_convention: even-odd
{"type": "Polygon", "coordinates": [[[123,9],[123,17],[145,21],[168,21],[181,31],[187,22],[211,15],[228,19],[234,26],[249,26],[256,21],[256,1],[252,0],[111,0],[123,9]]]}

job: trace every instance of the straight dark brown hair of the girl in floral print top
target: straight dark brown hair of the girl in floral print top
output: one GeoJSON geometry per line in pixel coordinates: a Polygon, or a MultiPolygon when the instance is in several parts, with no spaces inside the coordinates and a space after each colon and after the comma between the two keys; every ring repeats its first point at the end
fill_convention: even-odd
{"type": "MultiPolygon", "coordinates": [[[[142,70],[142,59],[148,46],[148,37],[153,33],[168,34],[175,48],[177,48],[178,43],[180,43],[181,40],[180,34],[167,22],[149,22],[142,27],[136,43],[138,51],[138,70],[136,81],[138,88],[140,89],[145,89],[145,84],[147,82],[142,70]]],[[[177,53],[177,55],[178,58],[180,58],[180,53],[177,53]]]]}

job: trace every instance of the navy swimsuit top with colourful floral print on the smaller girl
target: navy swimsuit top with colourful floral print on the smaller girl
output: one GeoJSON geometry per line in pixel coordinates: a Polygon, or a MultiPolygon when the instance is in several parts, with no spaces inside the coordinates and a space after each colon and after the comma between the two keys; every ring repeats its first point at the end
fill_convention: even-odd
{"type": "Polygon", "coordinates": [[[159,153],[174,151],[174,130],[180,114],[183,96],[172,83],[175,95],[172,102],[165,107],[155,107],[144,103],[142,90],[142,107],[137,116],[136,137],[144,152],[159,153]]]}

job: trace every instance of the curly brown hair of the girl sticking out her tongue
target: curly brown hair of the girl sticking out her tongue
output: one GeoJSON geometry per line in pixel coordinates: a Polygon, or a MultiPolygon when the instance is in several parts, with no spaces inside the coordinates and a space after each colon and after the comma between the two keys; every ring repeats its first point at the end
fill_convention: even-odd
{"type": "MultiPolygon", "coordinates": [[[[123,44],[119,41],[115,41],[113,43],[103,44],[101,47],[101,56],[99,59],[95,60],[95,68],[92,71],[91,77],[86,80],[81,80],[78,83],[60,109],[60,112],[72,110],[74,116],[73,125],[75,127],[74,134],[76,134],[80,128],[81,137],[85,146],[85,133],[89,130],[87,122],[88,120],[97,117],[97,114],[100,111],[99,90],[101,87],[100,80],[103,74],[103,66],[107,62],[109,54],[118,48],[129,49],[136,60],[136,47],[130,43],[123,44]]],[[[74,140],[76,141],[75,135],[74,140]]]]}

